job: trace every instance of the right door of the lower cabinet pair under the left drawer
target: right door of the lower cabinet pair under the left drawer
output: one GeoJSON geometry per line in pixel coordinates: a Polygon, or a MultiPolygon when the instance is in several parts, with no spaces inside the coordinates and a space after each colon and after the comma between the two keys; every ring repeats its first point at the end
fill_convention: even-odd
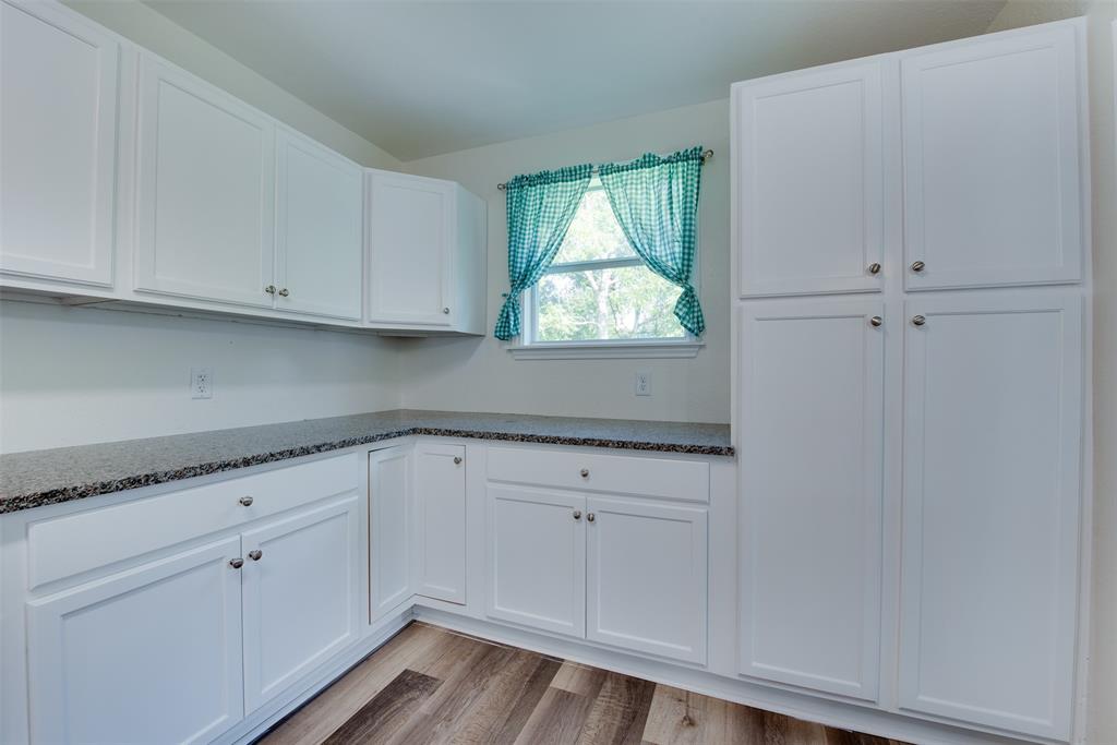
{"type": "Polygon", "coordinates": [[[356,641],[357,544],[356,495],[244,534],[248,713],[356,641]]]}

